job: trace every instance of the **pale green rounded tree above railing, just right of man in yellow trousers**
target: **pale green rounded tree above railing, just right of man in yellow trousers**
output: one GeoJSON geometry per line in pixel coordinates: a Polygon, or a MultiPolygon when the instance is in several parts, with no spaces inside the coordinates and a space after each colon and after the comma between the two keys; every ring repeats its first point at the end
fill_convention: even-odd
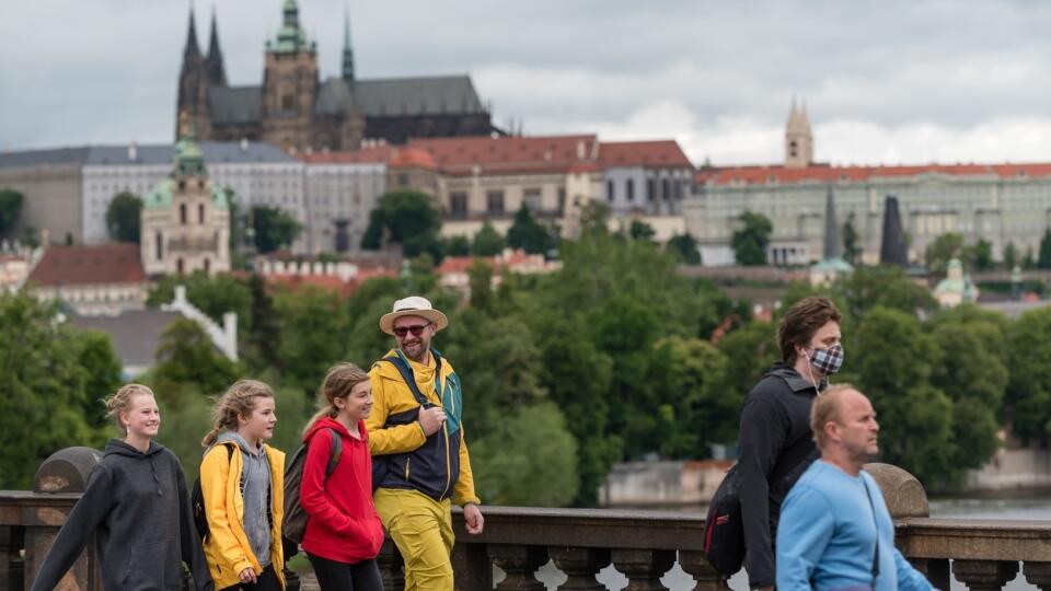
{"type": "Polygon", "coordinates": [[[554,404],[508,413],[471,444],[478,494],[487,505],[563,507],[580,490],[578,445],[554,404]]]}

